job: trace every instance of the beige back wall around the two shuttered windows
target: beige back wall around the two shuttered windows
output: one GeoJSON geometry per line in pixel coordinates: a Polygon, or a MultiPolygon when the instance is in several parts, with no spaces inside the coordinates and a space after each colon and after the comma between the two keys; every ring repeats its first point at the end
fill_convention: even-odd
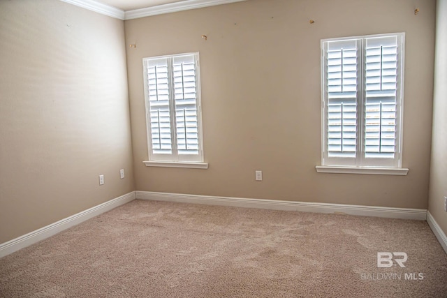
{"type": "Polygon", "coordinates": [[[250,0],[124,22],[138,191],[427,208],[435,1],[250,0]],[[309,20],[315,20],[309,24],[309,20]],[[320,40],[406,33],[406,177],[317,174],[320,40]],[[200,38],[203,34],[208,39],[200,38]],[[142,58],[200,52],[208,170],[145,167],[142,58]],[[263,170],[263,181],[254,171],[263,170]]]}

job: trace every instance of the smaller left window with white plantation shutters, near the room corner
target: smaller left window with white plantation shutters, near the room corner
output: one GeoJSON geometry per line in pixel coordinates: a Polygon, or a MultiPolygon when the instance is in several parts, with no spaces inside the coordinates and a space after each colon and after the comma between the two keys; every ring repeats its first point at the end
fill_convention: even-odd
{"type": "Polygon", "coordinates": [[[150,162],[202,163],[198,53],[144,58],[150,162]]]}

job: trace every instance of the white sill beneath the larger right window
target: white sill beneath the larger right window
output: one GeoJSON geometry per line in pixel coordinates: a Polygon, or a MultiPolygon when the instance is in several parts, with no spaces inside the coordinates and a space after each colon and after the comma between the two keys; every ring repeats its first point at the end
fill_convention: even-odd
{"type": "Polygon", "coordinates": [[[403,167],[336,167],[317,165],[316,172],[331,174],[373,174],[406,176],[408,169],[403,167]]]}

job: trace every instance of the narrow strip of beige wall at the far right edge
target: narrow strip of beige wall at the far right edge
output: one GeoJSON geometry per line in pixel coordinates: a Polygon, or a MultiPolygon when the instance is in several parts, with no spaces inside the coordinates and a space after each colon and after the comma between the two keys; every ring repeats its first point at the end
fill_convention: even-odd
{"type": "Polygon", "coordinates": [[[432,167],[430,171],[429,211],[447,234],[447,0],[437,2],[436,56],[434,70],[434,107],[432,167]]]}

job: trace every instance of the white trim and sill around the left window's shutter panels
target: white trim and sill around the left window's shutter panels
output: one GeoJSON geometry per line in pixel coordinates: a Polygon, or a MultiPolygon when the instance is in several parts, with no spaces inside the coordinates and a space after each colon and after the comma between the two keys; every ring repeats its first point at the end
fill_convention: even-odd
{"type": "MultiPolygon", "coordinates": [[[[200,88],[200,63],[199,63],[199,53],[198,52],[186,52],[180,54],[168,54],[156,57],[143,57],[142,58],[142,72],[143,72],[143,89],[145,96],[145,112],[146,112],[146,137],[147,137],[147,156],[148,161],[143,161],[146,166],[155,166],[155,167],[196,167],[196,168],[207,168],[208,164],[204,163],[204,153],[203,153],[203,126],[202,126],[202,104],[201,104],[201,88],[200,88]],[[175,59],[176,57],[183,56],[193,56],[193,59],[196,63],[196,110],[197,110],[197,130],[198,130],[198,155],[194,155],[193,158],[191,156],[184,154],[178,154],[177,148],[172,149],[172,154],[154,154],[152,150],[152,127],[151,127],[151,119],[150,119],[150,106],[149,106],[149,85],[147,84],[148,73],[147,73],[147,61],[155,60],[155,59],[175,59]],[[176,152],[174,152],[176,151],[176,152]],[[158,156],[158,158],[154,158],[154,156],[158,156]],[[180,156],[182,158],[180,158],[180,156]],[[205,167],[206,165],[206,167],[205,167]]],[[[169,77],[173,75],[173,69],[171,64],[168,63],[168,72],[169,77]]],[[[170,110],[175,110],[175,98],[174,94],[170,93],[169,105],[170,110]]],[[[175,112],[171,114],[171,126],[174,127],[175,122],[175,112]]],[[[176,128],[172,128],[172,138],[176,138],[176,128]]],[[[177,140],[173,140],[173,146],[177,144],[177,140]]]]}

